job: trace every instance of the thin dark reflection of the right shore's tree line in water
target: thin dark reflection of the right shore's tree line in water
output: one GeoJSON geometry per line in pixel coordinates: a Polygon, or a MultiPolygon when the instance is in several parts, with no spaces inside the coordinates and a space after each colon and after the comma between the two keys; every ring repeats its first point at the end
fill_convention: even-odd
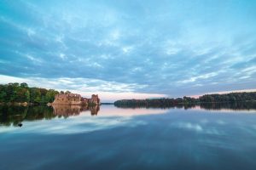
{"type": "Polygon", "coordinates": [[[256,110],[256,102],[240,102],[240,103],[201,103],[201,104],[177,104],[177,105],[115,105],[119,108],[161,108],[161,109],[193,109],[200,107],[205,110],[223,110],[229,109],[234,111],[256,110]]]}

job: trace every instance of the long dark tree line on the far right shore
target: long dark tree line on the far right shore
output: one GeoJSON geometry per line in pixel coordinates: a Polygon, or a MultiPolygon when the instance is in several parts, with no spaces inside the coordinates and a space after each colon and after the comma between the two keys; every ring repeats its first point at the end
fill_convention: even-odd
{"type": "Polygon", "coordinates": [[[150,105],[150,106],[172,106],[191,105],[200,103],[229,103],[256,101],[256,92],[230,93],[230,94],[205,94],[198,99],[184,96],[183,98],[170,99],[121,99],[114,102],[114,105],[150,105]]]}

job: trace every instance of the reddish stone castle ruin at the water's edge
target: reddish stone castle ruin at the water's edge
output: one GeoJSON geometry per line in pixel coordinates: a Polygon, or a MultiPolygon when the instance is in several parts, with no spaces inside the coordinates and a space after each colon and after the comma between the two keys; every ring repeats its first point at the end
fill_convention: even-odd
{"type": "Polygon", "coordinates": [[[92,94],[91,99],[80,94],[56,94],[52,105],[101,105],[98,94],[92,94]]]}

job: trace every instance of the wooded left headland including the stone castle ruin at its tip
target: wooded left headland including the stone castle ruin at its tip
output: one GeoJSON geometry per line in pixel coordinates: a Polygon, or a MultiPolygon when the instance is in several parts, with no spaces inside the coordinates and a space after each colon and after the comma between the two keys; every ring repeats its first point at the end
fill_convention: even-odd
{"type": "Polygon", "coordinates": [[[97,94],[90,99],[55,89],[29,87],[26,82],[0,84],[0,105],[101,105],[97,94]]]}

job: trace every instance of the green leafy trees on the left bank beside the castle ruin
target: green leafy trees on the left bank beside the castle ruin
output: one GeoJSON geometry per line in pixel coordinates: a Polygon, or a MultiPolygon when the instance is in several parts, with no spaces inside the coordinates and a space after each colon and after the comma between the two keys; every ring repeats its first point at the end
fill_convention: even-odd
{"type": "Polygon", "coordinates": [[[54,89],[29,88],[26,82],[0,84],[0,103],[46,104],[54,101],[55,94],[59,92],[54,89]]]}

